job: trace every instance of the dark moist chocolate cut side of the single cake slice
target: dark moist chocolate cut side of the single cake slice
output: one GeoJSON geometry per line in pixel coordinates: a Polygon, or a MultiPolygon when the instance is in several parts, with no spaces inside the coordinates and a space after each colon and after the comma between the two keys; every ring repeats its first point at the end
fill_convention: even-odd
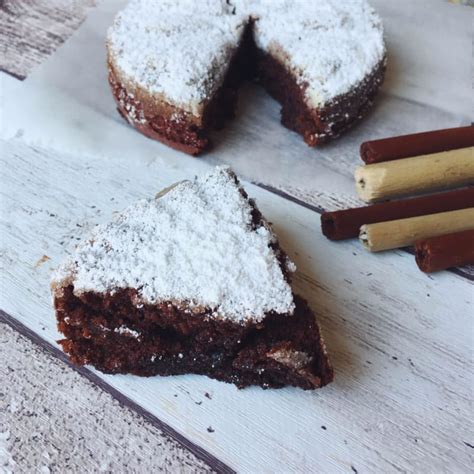
{"type": "Polygon", "coordinates": [[[129,291],[78,298],[65,289],[55,305],[60,343],[72,362],[111,374],[207,375],[239,388],[310,390],[332,381],[315,316],[302,298],[295,298],[291,321],[274,314],[257,326],[193,324],[171,303],[137,309],[132,301],[129,291]]]}

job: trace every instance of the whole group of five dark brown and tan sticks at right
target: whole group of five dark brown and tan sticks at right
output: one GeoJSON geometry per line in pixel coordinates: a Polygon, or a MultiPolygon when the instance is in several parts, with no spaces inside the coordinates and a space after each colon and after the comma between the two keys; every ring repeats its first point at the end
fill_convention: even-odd
{"type": "MultiPolygon", "coordinates": [[[[474,126],[365,142],[360,155],[366,202],[474,184],[474,126]]],[[[474,263],[474,187],[325,212],[321,224],[327,238],[358,236],[372,252],[414,245],[424,272],[474,263]]]]}

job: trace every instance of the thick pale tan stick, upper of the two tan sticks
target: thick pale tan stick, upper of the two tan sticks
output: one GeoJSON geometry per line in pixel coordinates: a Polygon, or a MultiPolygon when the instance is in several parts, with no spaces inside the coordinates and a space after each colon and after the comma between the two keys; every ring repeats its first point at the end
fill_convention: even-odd
{"type": "Polygon", "coordinates": [[[361,166],[356,189],[367,202],[474,183],[474,147],[361,166]]]}

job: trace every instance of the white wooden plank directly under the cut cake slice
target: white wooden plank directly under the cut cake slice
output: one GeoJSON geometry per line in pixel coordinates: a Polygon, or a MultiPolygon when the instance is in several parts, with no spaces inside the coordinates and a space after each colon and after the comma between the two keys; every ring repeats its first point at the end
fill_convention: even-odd
{"type": "MultiPolygon", "coordinates": [[[[0,307],[50,342],[50,273],[76,239],[133,199],[208,169],[185,157],[176,167],[2,149],[0,307]]],[[[299,267],[294,286],[320,315],[335,383],[238,391],[198,376],[98,375],[239,470],[468,470],[473,285],[422,275],[406,253],[328,242],[313,211],[246,187],[299,267]]]]}

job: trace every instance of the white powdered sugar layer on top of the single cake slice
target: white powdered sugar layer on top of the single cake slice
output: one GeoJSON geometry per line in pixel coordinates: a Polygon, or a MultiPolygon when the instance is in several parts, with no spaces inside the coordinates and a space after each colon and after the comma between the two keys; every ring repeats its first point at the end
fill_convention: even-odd
{"type": "Polygon", "coordinates": [[[73,284],[76,294],[134,288],[139,303],[184,302],[210,308],[210,317],[260,321],[294,309],[274,242],[268,224],[252,228],[234,174],[216,168],[98,226],[53,286],[73,284]]]}

